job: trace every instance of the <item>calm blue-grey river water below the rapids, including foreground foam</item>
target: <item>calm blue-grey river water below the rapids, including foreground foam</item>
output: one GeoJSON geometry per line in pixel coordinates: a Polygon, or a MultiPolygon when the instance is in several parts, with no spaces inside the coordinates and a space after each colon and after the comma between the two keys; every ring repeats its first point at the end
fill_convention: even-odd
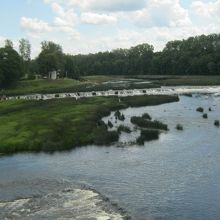
{"type": "Polygon", "coordinates": [[[220,219],[220,128],[213,124],[220,97],[181,96],[122,112],[126,125],[148,112],[170,130],[145,146],[0,157],[0,219],[220,219]]]}

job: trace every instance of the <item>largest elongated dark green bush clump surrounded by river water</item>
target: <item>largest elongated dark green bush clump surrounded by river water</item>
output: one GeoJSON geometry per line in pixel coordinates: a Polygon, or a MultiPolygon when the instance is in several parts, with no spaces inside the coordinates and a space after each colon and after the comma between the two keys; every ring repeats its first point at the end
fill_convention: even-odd
{"type": "Polygon", "coordinates": [[[135,124],[139,127],[143,127],[143,128],[154,128],[154,129],[160,129],[160,130],[168,130],[168,126],[166,124],[163,124],[160,121],[149,121],[149,120],[145,120],[142,117],[131,117],[131,123],[135,124]]]}

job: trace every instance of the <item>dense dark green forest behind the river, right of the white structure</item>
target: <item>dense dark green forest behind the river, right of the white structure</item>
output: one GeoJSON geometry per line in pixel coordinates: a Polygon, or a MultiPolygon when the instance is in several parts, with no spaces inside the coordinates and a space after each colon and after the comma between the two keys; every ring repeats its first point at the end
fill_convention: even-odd
{"type": "MultiPolygon", "coordinates": [[[[71,56],[80,75],[218,75],[220,34],[170,41],[161,52],[148,44],[71,56]]],[[[68,57],[70,59],[70,57],[68,57]]]]}

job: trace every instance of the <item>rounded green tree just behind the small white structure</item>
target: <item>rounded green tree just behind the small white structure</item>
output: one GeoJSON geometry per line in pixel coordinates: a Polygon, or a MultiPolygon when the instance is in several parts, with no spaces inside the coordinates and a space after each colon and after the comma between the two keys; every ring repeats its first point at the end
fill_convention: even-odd
{"type": "Polygon", "coordinates": [[[51,71],[63,69],[63,51],[62,47],[51,41],[41,43],[41,53],[38,56],[39,70],[47,75],[51,71]]]}

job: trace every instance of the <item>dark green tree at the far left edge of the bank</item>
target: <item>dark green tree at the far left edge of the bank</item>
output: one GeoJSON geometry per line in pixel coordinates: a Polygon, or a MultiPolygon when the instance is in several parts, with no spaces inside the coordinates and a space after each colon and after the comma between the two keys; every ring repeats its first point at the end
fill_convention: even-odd
{"type": "Polygon", "coordinates": [[[19,54],[10,46],[0,48],[0,86],[16,82],[22,76],[22,62],[19,54]]]}

